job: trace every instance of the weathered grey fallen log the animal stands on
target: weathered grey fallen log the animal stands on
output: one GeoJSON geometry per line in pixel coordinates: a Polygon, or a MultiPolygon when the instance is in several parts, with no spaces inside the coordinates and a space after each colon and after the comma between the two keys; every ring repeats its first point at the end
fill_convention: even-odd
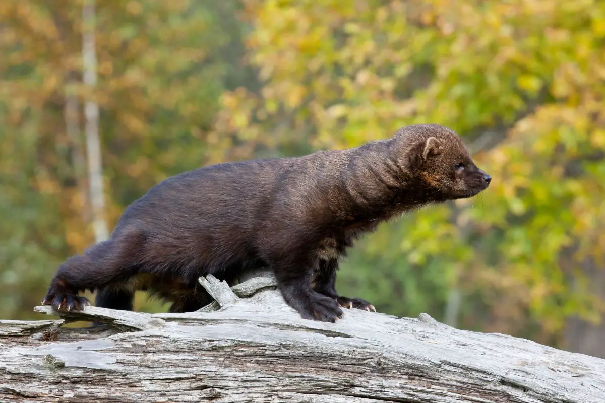
{"type": "Polygon", "coordinates": [[[0,321],[0,401],[605,402],[603,359],[426,314],[303,320],[262,273],[200,283],[215,301],[188,314],[88,307],[0,321]],[[105,325],[61,327],[81,320],[105,325]]]}

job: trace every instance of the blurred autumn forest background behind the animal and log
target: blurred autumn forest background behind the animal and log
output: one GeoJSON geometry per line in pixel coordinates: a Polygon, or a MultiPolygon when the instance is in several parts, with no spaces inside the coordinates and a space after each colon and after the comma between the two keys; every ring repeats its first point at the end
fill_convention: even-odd
{"type": "Polygon", "coordinates": [[[0,318],[39,319],[56,267],[167,176],[411,123],[459,132],[492,185],[366,236],[339,292],[605,357],[597,0],[2,0],[0,318]]]}

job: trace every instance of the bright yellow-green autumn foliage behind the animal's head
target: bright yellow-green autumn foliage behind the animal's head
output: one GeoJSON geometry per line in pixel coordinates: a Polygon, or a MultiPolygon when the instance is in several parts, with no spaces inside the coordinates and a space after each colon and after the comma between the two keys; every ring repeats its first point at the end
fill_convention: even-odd
{"type": "Polygon", "coordinates": [[[407,228],[401,251],[412,263],[485,262],[473,270],[495,261],[503,282],[529,285],[523,303],[554,332],[571,312],[554,309],[557,298],[587,317],[598,309],[578,302],[574,292],[584,291],[558,265],[561,256],[579,264],[574,250],[603,254],[603,16],[594,0],[247,2],[255,27],[247,46],[264,87],[225,95],[217,131],[244,141],[220,158],[266,143],[267,132],[281,141],[310,133],[313,147],[356,146],[428,122],[456,129],[471,147],[482,132],[495,137],[476,156],[492,186],[465,208],[483,232],[503,233],[499,253],[445,230],[436,208],[407,228]],[[284,121],[289,130],[276,131],[284,121]]]}

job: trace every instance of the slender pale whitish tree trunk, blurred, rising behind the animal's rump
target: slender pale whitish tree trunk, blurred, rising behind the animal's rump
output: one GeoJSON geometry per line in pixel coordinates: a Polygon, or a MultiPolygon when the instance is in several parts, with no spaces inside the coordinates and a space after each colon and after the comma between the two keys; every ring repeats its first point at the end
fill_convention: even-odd
{"type": "MultiPolygon", "coordinates": [[[[82,63],[83,81],[88,93],[94,93],[97,83],[97,56],[94,45],[95,11],[94,0],[84,0],[82,7],[82,63]]],[[[109,237],[105,220],[105,199],[103,195],[103,169],[101,162],[101,144],[99,138],[99,105],[94,99],[88,99],[84,105],[86,120],[86,146],[88,154],[88,183],[90,201],[93,210],[93,230],[96,242],[109,237]]]]}

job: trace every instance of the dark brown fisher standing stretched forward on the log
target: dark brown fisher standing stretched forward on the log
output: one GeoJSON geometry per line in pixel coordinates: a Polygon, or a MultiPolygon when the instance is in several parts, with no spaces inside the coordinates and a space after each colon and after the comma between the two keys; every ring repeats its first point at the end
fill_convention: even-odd
{"type": "Polygon", "coordinates": [[[51,281],[46,305],[132,310],[137,289],[189,312],[209,302],[198,286],[227,283],[268,266],[284,300],[303,318],[333,322],[342,307],[374,310],[338,295],[339,257],[363,233],[433,202],[469,198],[491,178],[462,139],[436,124],[407,126],[387,140],[297,158],[218,164],[166,179],[129,205],[109,240],[70,257],[51,281]]]}

